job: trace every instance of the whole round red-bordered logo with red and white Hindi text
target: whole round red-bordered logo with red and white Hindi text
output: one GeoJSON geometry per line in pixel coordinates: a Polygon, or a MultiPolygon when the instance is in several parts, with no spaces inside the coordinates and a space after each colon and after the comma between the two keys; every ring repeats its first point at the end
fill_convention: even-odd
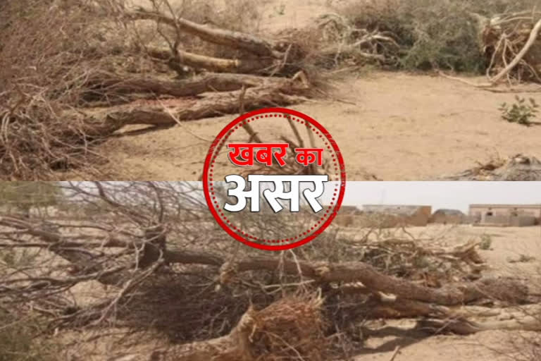
{"type": "Polygon", "coordinates": [[[203,171],[214,219],[235,240],[260,250],[287,250],[320,235],[340,209],[345,184],[344,159],[330,133],[306,114],[285,108],[251,111],[225,126],[203,171]],[[237,188],[225,189],[232,184],[237,188]],[[273,186],[261,190],[265,184],[273,186]],[[303,189],[306,184],[313,189],[303,189]],[[289,201],[289,212],[278,200],[289,201]]]}

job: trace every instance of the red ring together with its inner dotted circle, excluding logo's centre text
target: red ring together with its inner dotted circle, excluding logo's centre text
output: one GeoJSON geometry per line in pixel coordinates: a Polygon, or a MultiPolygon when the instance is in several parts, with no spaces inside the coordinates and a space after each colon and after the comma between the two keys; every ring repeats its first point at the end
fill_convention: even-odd
{"type": "Polygon", "coordinates": [[[342,157],[340,157],[340,150],[338,150],[337,145],[332,140],[332,137],[330,137],[330,134],[326,132],[326,130],[325,132],[321,131],[324,130],[321,125],[316,123],[316,121],[313,121],[311,118],[306,116],[304,116],[306,118],[303,118],[303,116],[304,114],[292,111],[291,109],[281,108],[261,109],[259,111],[245,114],[244,116],[235,119],[235,121],[232,121],[232,123],[230,123],[230,125],[224,129],[226,130],[225,133],[220,133],[221,137],[218,135],[213,143],[213,146],[211,146],[211,149],[209,149],[209,154],[207,155],[205,162],[206,172],[204,172],[204,189],[207,203],[209,203],[209,207],[212,208],[211,212],[225,231],[228,231],[228,233],[230,233],[230,235],[232,235],[235,239],[241,240],[247,245],[265,250],[284,250],[297,247],[297,243],[298,245],[304,244],[321,233],[323,229],[330,224],[330,221],[334,218],[337,210],[340,208],[340,203],[342,201],[345,188],[345,171],[342,157]],[[263,113],[263,111],[265,113],[263,113]],[[292,112],[294,114],[292,114],[292,112]],[[217,151],[226,145],[229,137],[235,133],[236,130],[241,129],[248,123],[254,123],[256,121],[268,118],[289,118],[290,120],[299,123],[301,126],[307,126],[315,133],[316,136],[320,137],[323,140],[324,146],[326,147],[325,150],[332,152],[331,161],[334,174],[329,175],[329,181],[339,182],[338,185],[335,185],[332,192],[332,200],[329,206],[327,209],[322,209],[320,211],[325,211],[321,219],[318,219],[318,221],[309,229],[306,229],[305,231],[290,238],[263,239],[242,231],[240,228],[232,224],[232,221],[225,216],[223,209],[221,209],[218,199],[216,198],[214,189],[214,183],[218,182],[213,178],[215,174],[216,157],[218,157],[217,151]],[[316,125],[314,125],[314,123],[316,125]]]}

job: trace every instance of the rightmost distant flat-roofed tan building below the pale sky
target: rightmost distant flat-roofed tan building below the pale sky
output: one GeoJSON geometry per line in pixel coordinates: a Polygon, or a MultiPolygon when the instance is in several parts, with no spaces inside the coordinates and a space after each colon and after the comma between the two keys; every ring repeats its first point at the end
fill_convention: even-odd
{"type": "Polygon", "coordinates": [[[535,226],[541,204],[471,204],[470,217],[479,226],[535,226]]]}

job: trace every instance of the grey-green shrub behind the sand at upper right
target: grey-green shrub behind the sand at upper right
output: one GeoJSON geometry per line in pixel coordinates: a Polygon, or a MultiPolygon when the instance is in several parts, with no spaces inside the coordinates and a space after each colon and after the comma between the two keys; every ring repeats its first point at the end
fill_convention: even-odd
{"type": "MultiPolygon", "coordinates": [[[[347,21],[348,36],[359,29],[392,37],[399,48],[383,47],[397,68],[444,68],[483,72],[488,66],[480,46],[480,23],[472,14],[492,18],[499,13],[531,11],[534,0],[365,0],[355,1],[338,13],[347,21]]],[[[355,42],[355,39],[349,41],[355,42]]]]}

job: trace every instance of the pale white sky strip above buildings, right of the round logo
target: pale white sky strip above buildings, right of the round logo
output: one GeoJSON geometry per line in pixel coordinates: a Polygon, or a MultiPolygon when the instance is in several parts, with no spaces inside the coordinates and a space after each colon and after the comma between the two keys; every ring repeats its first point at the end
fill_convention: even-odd
{"type": "Polygon", "coordinates": [[[423,204],[462,212],[479,203],[541,204],[541,182],[347,182],[342,202],[423,204]]]}

